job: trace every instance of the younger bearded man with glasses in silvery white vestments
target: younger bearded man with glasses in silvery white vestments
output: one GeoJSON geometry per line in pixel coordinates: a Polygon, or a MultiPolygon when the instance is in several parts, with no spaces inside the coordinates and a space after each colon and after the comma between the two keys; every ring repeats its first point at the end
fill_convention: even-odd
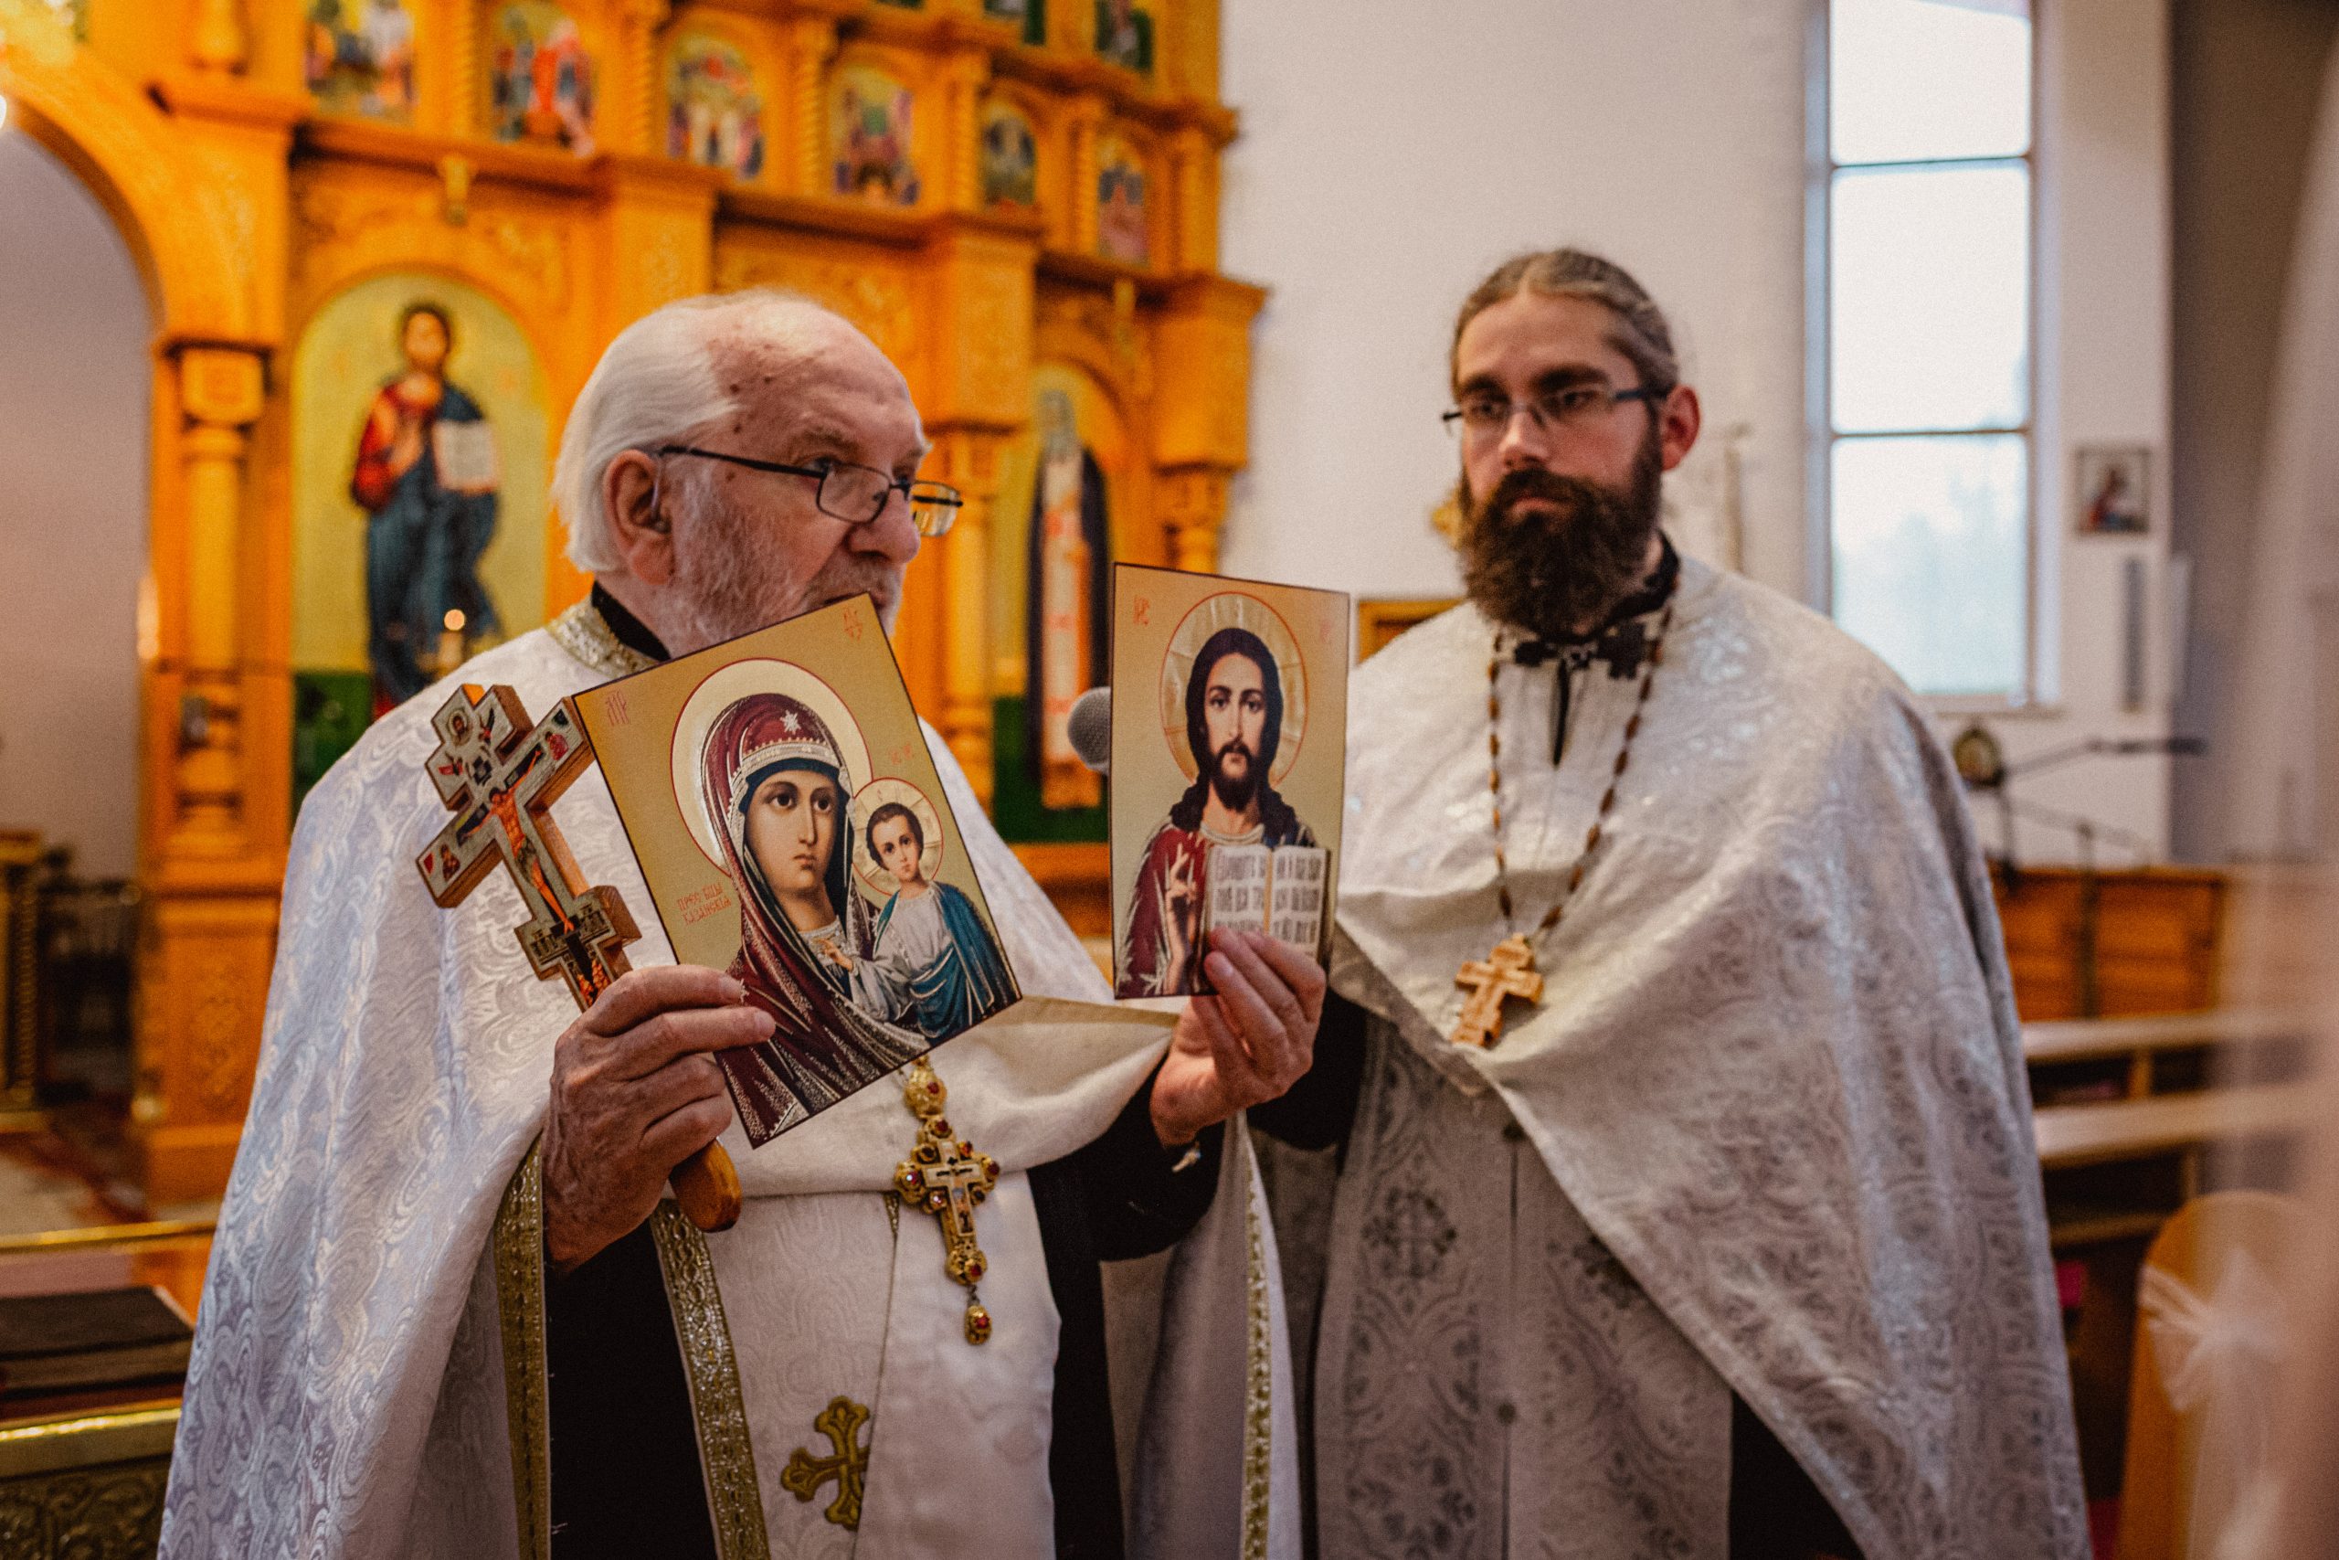
{"type": "Polygon", "coordinates": [[[1698,398],[1626,271],[1497,269],[1453,395],[1469,601],[1357,674],[1336,996],[1251,1116],[1343,1146],[1296,1317],[1319,1553],[2086,1555],[1925,711],[1658,531],[1698,398]]]}

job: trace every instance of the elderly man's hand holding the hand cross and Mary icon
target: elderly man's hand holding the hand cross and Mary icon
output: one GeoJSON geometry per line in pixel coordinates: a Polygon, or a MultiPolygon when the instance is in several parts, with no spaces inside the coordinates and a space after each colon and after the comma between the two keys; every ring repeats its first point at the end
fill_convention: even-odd
{"type": "Polygon", "coordinates": [[[746,987],[695,964],[620,975],[552,1048],[545,1251],[568,1272],[632,1235],[674,1167],[732,1120],[706,1052],[772,1038],[746,987]]]}

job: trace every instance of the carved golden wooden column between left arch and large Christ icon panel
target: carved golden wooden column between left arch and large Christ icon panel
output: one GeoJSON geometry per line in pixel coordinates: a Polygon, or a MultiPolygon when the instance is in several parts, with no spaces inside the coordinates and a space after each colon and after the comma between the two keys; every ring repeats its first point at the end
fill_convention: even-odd
{"type": "MultiPolygon", "coordinates": [[[[215,9],[225,19],[243,5],[215,9]]],[[[281,42],[281,40],[278,40],[281,42]]],[[[285,407],[269,367],[285,332],[292,126],[302,91],[274,84],[274,51],[241,73],[220,51],[152,84],[168,136],[199,168],[232,269],[201,309],[164,320],[154,374],[154,636],[140,685],[140,884],[131,1130],[157,1207],[211,1197],[243,1132],[260,1055],[292,800],[292,688],[281,596],[283,531],[255,470],[285,407]],[[255,428],[269,433],[255,442],[255,428]]],[[[178,234],[175,248],[192,241],[178,234]]],[[[157,236],[157,248],[164,248],[157,236]]],[[[168,292],[166,292],[168,297],[168,292]]]]}

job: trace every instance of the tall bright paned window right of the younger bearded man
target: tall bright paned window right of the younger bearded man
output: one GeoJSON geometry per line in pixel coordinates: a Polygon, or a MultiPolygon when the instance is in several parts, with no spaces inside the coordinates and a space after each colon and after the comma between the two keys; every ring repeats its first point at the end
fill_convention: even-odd
{"type": "Polygon", "coordinates": [[[2030,2],[1829,0],[1813,477],[1836,622],[2030,695],[2030,2]]]}

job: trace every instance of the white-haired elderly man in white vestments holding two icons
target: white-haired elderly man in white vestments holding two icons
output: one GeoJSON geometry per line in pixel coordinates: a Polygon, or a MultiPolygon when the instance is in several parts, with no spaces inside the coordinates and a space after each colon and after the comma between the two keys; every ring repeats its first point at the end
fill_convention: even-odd
{"type": "MultiPolygon", "coordinates": [[[[924,454],[901,372],[842,318],[770,292],[660,309],[561,442],[589,601],[458,681],[540,718],[828,601],[891,620],[952,498],[915,482],[924,454]]],[[[433,905],[412,863],[444,821],[423,758],[451,688],[302,809],[164,1553],[1118,1555],[1099,1258],[1172,1242],[1132,1530],[1289,1551],[1289,1506],[1263,1509],[1293,1473],[1272,1244],[1219,1123],[1305,1071],[1322,975],[1228,938],[1221,996],[1177,1020],[1062,1001],[1104,982],[936,746],[1022,987],[1060,999],[931,1059],[952,1134],[1001,1169],[980,1338],[938,1223],[886,1195],[919,1134],[901,1085],[748,1153],[709,1057],[772,1031],[739,982],[650,924],[646,968],[580,1017],[515,952],[508,891],[433,905]],[[702,1237],[660,1197],[718,1134],[744,1214],[702,1237]]],[[[596,774],[559,819],[646,907],[596,774]]]]}

